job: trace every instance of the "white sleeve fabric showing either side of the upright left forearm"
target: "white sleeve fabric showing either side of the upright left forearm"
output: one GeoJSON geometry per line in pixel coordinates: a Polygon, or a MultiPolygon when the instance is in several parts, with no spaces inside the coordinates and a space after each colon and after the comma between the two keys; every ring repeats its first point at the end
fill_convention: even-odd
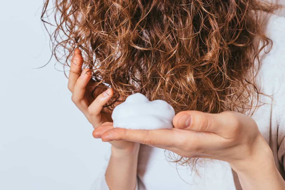
{"type": "MultiPolygon", "coordinates": [[[[111,190],[111,189],[109,189],[107,182],[106,182],[106,179],[105,179],[105,172],[106,172],[107,166],[109,164],[110,156],[111,156],[111,146],[109,147],[109,149],[107,150],[107,152],[104,155],[104,162],[102,163],[102,169],[101,169],[99,175],[97,175],[97,177],[93,181],[93,184],[92,184],[90,190],[111,190]]],[[[136,189],[135,190],[139,190],[138,179],[136,182],[136,189]]]]}

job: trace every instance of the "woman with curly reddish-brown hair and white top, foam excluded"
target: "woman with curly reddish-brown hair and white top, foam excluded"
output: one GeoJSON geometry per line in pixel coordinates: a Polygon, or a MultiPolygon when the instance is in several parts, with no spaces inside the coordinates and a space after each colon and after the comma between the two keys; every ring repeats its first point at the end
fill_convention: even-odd
{"type": "Polygon", "coordinates": [[[285,24],[268,14],[278,6],[58,0],[55,7],[51,39],[58,60],[66,52],[70,63],[72,101],[93,136],[111,144],[92,189],[285,189],[285,24]],[[174,128],[113,128],[112,110],[134,92],[171,104],[174,128]]]}

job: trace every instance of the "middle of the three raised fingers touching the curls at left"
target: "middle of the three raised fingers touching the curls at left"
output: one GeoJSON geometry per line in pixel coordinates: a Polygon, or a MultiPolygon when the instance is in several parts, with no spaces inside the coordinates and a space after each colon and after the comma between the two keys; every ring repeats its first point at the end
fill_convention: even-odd
{"type": "Polygon", "coordinates": [[[83,112],[87,112],[88,109],[88,101],[84,96],[86,91],[86,85],[88,81],[91,79],[91,71],[90,69],[84,69],[76,81],[74,85],[73,93],[72,93],[72,101],[75,105],[83,112]]]}

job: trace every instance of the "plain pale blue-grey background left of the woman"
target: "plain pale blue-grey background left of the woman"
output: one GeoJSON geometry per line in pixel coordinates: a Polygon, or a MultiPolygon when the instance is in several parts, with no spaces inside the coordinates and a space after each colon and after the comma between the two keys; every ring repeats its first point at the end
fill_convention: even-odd
{"type": "Polygon", "coordinates": [[[109,144],[92,137],[54,59],[32,69],[50,56],[42,1],[0,7],[0,189],[89,189],[109,144]]]}

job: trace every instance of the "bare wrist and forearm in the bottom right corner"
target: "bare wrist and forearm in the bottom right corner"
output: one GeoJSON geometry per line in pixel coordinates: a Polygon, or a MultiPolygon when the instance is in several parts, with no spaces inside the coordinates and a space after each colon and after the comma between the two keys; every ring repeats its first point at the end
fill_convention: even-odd
{"type": "Polygon", "coordinates": [[[243,162],[239,168],[233,168],[239,177],[243,190],[285,189],[285,181],[275,166],[272,151],[262,138],[257,146],[258,154],[243,162]]]}

